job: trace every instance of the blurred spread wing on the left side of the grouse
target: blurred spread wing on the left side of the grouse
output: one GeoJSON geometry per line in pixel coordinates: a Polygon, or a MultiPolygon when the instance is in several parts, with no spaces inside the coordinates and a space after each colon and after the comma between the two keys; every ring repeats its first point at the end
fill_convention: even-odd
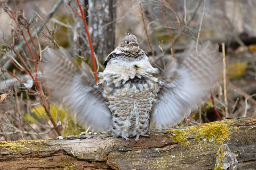
{"type": "Polygon", "coordinates": [[[72,113],[75,123],[97,130],[108,130],[111,112],[102,97],[102,87],[95,83],[86,63],[78,69],[72,56],[63,48],[57,52],[48,48],[43,54],[44,77],[54,97],[72,113]]]}

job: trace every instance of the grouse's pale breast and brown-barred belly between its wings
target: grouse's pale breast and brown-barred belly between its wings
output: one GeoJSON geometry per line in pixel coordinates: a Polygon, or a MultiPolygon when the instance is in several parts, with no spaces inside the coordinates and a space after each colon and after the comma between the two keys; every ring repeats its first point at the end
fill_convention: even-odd
{"type": "Polygon", "coordinates": [[[129,62],[116,53],[112,53],[111,57],[112,60],[101,73],[103,96],[112,112],[110,133],[128,140],[148,131],[150,111],[158,90],[155,77],[158,69],[150,65],[143,51],[129,62]]]}

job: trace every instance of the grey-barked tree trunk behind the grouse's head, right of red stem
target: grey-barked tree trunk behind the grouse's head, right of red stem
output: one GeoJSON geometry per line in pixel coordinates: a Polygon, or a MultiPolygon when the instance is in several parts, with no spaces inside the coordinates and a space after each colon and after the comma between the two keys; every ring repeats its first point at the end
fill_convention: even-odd
{"type": "Polygon", "coordinates": [[[89,0],[88,26],[94,52],[99,60],[115,48],[115,0],[89,0]]]}

